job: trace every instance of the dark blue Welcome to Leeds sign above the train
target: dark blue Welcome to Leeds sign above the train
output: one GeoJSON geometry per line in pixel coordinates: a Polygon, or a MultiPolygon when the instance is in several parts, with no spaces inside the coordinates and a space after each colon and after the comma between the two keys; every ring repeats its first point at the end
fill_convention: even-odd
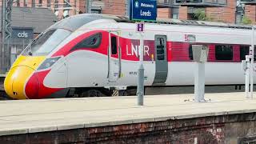
{"type": "Polygon", "coordinates": [[[155,21],[157,0],[130,0],[130,20],[155,21]]]}

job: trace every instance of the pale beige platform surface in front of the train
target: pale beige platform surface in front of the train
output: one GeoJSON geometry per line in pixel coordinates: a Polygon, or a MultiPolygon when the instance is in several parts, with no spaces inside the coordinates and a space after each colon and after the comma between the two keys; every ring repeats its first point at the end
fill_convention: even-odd
{"type": "Polygon", "coordinates": [[[210,101],[198,103],[193,94],[154,95],[144,106],[131,96],[0,101],[0,135],[250,113],[256,112],[254,96],[206,94],[210,101]]]}

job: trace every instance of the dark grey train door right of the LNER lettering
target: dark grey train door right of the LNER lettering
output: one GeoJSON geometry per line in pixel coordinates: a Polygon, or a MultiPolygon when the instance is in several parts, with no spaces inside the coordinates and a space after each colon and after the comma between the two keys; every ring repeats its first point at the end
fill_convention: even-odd
{"type": "Polygon", "coordinates": [[[155,76],[153,85],[165,85],[168,74],[168,62],[166,53],[166,35],[154,36],[155,51],[155,76]]]}

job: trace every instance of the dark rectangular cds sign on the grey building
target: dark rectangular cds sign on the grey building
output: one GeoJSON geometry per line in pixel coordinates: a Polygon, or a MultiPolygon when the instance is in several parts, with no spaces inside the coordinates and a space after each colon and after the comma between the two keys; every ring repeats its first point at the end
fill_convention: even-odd
{"type": "Polygon", "coordinates": [[[33,28],[12,27],[11,37],[33,39],[34,30],[33,28]]]}

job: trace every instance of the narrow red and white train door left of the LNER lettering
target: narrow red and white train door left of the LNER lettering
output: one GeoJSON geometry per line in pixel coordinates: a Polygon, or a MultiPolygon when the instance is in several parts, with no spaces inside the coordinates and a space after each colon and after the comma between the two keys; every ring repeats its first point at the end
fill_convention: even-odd
{"type": "Polygon", "coordinates": [[[121,74],[121,48],[118,32],[109,34],[108,81],[117,82],[121,74]]]}

